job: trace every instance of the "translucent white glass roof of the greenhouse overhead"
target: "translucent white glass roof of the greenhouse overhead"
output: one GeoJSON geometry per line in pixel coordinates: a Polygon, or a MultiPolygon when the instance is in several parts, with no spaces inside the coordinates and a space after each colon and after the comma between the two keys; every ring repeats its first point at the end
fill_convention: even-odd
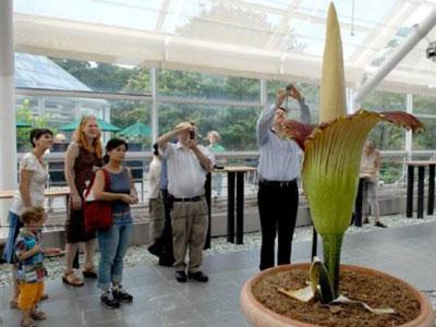
{"type": "MultiPolygon", "coordinates": [[[[436,0],[334,1],[347,83],[362,81],[402,45],[436,0]]],[[[15,0],[19,51],[120,64],[157,64],[280,80],[320,75],[329,0],[15,0]]],[[[434,93],[425,56],[436,27],[382,88],[434,93]]]]}

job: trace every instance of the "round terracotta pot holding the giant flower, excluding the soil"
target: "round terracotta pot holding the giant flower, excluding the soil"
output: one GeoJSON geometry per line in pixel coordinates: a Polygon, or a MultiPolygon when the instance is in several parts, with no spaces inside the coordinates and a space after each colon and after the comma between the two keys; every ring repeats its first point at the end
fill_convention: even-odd
{"type": "MultiPolygon", "coordinates": [[[[304,264],[295,264],[295,265],[286,265],[286,266],[278,266],[274,268],[269,268],[267,270],[261,271],[258,275],[253,277],[252,279],[247,280],[241,291],[241,307],[246,316],[246,318],[257,327],[311,327],[315,326],[313,324],[307,324],[307,323],[301,323],[294,319],[291,319],[289,317],[279,315],[269,308],[265,307],[262,305],[253,295],[252,292],[252,287],[257,283],[258,280],[261,280],[264,276],[276,272],[276,271],[281,271],[281,270],[293,270],[293,269],[306,269],[308,270],[310,264],[304,263],[304,264]]],[[[416,296],[417,301],[420,302],[421,306],[421,314],[413,319],[412,322],[409,322],[404,325],[401,325],[401,327],[431,327],[434,326],[434,314],[433,314],[433,307],[432,303],[428,301],[428,299],[419,292],[416,289],[414,289],[411,284],[408,282],[392,277],[390,275],[387,275],[385,272],[378,271],[378,270],[373,270],[370,268],[364,268],[364,267],[359,267],[359,266],[350,266],[350,265],[341,265],[342,269],[347,270],[352,270],[352,271],[361,271],[365,272],[367,275],[376,275],[380,277],[389,277],[398,282],[403,283],[405,287],[408,287],[412,293],[416,296]]]]}

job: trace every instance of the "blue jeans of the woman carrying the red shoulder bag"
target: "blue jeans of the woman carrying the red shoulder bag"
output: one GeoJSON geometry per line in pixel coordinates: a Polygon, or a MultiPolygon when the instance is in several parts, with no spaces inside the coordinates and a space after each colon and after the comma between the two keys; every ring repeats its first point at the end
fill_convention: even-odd
{"type": "Polygon", "coordinates": [[[107,291],[110,283],[119,284],[122,280],[123,258],[128,252],[133,232],[130,213],[113,218],[113,225],[106,231],[98,231],[97,239],[100,247],[98,263],[98,288],[107,291]]]}

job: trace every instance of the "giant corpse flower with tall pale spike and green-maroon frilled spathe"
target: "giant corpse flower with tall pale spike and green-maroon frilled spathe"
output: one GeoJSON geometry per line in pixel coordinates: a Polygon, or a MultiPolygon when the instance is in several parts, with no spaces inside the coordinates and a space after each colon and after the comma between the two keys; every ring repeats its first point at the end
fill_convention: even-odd
{"type": "MultiPolygon", "coordinates": [[[[356,196],[361,155],[371,130],[387,121],[417,132],[424,125],[405,112],[371,112],[364,109],[347,114],[342,45],[334,4],[328,10],[326,44],[320,85],[317,126],[287,121],[287,136],[304,150],[303,189],[312,220],[323,239],[324,265],[316,275],[323,277],[322,302],[339,296],[340,251],[350,225],[356,196]],[[323,274],[324,272],[324,274],[323,274]]],[[[311,269],[313,270],[313,269],[311,269]]]]}

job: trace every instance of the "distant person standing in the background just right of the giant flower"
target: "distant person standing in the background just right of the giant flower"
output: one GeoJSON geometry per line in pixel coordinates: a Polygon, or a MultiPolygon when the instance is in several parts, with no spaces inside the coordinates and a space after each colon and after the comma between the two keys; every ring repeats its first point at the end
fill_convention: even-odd
{"type": "Polygon", "coordinates": [[[380,221],[380,208],[378,205],[378,175],[380,170],[380,153],[375,148],[373,141],[366,141],[363,147],[361,161],[361,177],[365,177],[366,192],[364,192],[365,219],[368,223],[370,206],[374,215],[374,225],[376,227],[386,228],[387,226],[380,221]]]}

